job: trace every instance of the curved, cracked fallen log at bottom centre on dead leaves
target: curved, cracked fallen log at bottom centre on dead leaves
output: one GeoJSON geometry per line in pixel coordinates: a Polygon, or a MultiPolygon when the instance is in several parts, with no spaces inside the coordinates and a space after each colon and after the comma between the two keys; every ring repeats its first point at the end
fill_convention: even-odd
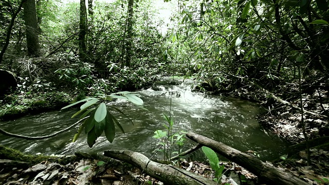
{"type": "Polygon", "coordinates": [[[144,173],[165,184],[216,184],[212,179],[199,176],[172,165],[154,162],[138,152],[127,150],[105,151],[104,156],[133,164],[143,170],[144,173]]]}

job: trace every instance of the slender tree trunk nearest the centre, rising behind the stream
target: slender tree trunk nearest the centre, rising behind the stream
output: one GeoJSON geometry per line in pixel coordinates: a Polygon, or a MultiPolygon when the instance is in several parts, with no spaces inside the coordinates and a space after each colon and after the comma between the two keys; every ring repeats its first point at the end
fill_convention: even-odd
{"type": "Polygon", "coordinates": [[[128,17],[127,17],[127,38],[125,42],[126,55],[125,55],[125,66],[131,65],[132,56],[132,38],[133,38],[133,14],[134,14],[134,0],[128,2],[128,17]]]}

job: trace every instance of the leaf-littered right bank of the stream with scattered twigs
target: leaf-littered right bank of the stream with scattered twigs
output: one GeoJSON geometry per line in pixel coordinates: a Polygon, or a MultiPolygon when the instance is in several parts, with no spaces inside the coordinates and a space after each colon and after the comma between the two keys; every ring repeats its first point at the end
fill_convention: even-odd
{"type": "Polygon", "coordinates": [[[263,113],[258,115],[262,126],[290,143],[288,154],[275,165],[310,184],[329,184],[329,84],[326,81],[321,77],[313,83],[306,80],[301,87],[303,90],[299,90],[298,83],[289,83],[270,94],[250,86],[231,93],[231,96],[257,101],[264,107],[263,113]],[[310,149],[310,165],[307,165],[303,124],[310,149]]]}

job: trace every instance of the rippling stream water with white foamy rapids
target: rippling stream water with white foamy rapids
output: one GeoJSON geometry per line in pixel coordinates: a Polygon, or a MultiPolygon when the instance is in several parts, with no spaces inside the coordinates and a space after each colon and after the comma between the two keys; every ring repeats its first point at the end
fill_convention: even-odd
{"type": "MultiPolygon", "coordinates": [[[[241,151],[257,151],[263,160],[277,159],[285,152],[285,143],[275,135],[268,134],[254,116],[259,112],[258,104],[234,98],[206,96],[192,93],[191,81],[180,85],[157,86],[157,90],[140,90],[140,98],[149,111],[120,100],[113,104],[129,116],[134,125],[124,116],[114,114],[122,124],[125,134],[117,130],[113,143],[104,136],[90,149],[86,135],[81,134],[77,142],[71,139],[78,127],[69,132],[43,140],[24,140],[0,135],[0,144],[28,153],[73,154],[75,151],[102,152],[105,150],[129,149],[150,156],[158,142],[152,136],[156,130],[164,130],[162,114],[171,116],[176,131],[193,131],[241,151]],[[171,108],[170,108],[171,107],[171,108]]],[[[44,136],[57,132],[75,123],[70,119],[77,109],[54,111],[25,116],[12,121],[0,122],[4,130],[21,135],[44,136]]],[[[187,142],[191,146],[192,142],[187,142]]],[[[202,158],[196,153],[193,159],[202,158]]]]}

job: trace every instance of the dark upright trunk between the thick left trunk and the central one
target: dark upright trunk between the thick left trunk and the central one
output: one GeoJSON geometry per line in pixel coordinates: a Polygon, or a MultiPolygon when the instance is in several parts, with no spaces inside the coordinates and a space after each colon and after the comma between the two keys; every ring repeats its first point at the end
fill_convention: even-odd
{"type": "Polygon", "coordinates": [[[87,31],[87,10],[85,0],[80,0],[80,23],[79,23],[79,58],[86,59],[86,31],[87,31]]]}

